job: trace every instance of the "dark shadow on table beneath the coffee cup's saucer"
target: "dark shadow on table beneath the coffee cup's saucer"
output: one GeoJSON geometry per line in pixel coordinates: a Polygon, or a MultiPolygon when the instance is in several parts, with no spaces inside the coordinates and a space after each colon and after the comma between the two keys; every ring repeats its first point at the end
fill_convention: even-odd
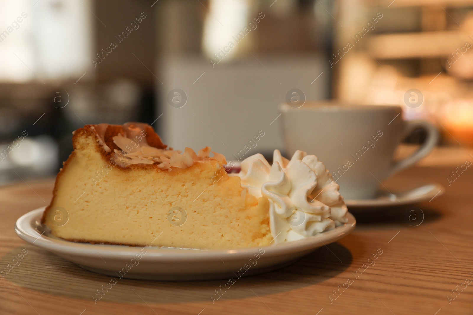
{"type": "Polygon", "coordinates": [[[386,225],[419,226],[442,217],[442,213],[434,208],[419,206],[400,206],[385,208],[349,208],[348,211],[356,218],[357,227],[386,225]]]}

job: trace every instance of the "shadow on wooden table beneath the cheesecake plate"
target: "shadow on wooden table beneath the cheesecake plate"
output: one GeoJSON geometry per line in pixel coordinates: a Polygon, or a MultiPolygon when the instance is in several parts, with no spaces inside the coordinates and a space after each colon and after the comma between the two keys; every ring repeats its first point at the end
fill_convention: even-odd
{"type": "MultiPolygon", "coordinates": [[[[0,266],[11,264],[12,259],[25,247],[17,247],[0,259],[0,266]]],[[[26,246],[28,254],[5,279],[24,288],[53,296],[80,298],[94,301],[97,290],[109,283],[111,277],[86,271],[50,252],[26,246]]],[[[338,243],[321,247],[282,269],[236,279],[230,289],[222,289],[219,300],[259,297],[308,287],[337,276],[351,264],[350,251],[338,243]]],[[[215,281],[141,281],[118,279],[112,289],[96,303],[185,303],[212,302],[228,280],[215,281]],[[222,287],[220,287],[220,285],[222,287]]],[[[330,291],[327,289],[327,292],[330,291]]],[[[327,293],[328,294],[328,293],[327,293]]],[[[214,301],[218,303],[217,300],[214,301]]]]}

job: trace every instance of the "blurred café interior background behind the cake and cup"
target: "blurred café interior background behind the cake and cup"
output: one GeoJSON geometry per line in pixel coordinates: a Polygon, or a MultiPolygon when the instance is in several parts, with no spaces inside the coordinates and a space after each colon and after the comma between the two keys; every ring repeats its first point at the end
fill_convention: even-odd
{"type": "Polygon", "coordinates": [[[228,159],[262,131],[271,153],[293,89],[399,104],[465,150],[472,48],[473,0],[0,0],[0,185],[56,174],[101,122],[228,159]]]}

